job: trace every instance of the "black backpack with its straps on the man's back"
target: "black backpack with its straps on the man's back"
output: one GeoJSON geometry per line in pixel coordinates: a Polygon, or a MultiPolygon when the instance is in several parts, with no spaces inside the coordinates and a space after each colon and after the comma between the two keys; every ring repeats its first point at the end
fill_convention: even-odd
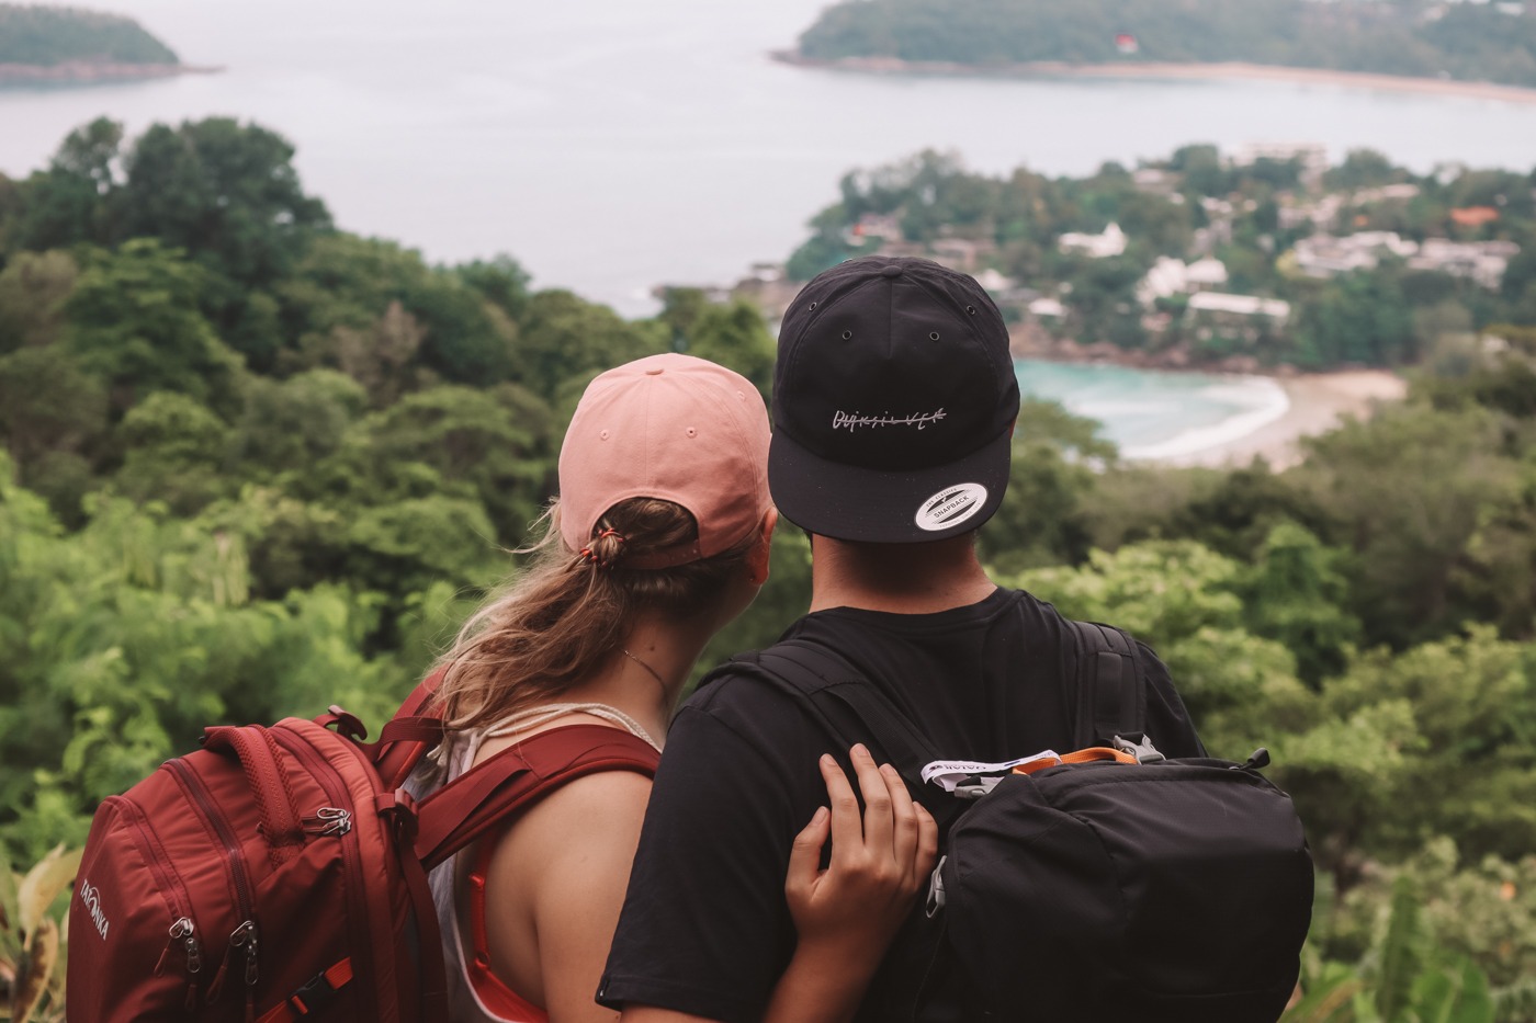
{"type": "Polygon", "coordinates": [[[872,737],[940,822],[928,905],[860,1021],[1273,1023],[1284,1011],[1313,871],[1290,797],[1258,773],[1267,753],[1164,759],[1143,727],[1137,645],[1071,625],[1083,665],[1074,740],[1103,751],[978,774],[954,794],[928,779],[966,771],[937,766],[922,730],[825,647],[785,641],[725,670],[808,699],[845,748],[872,737]]]}

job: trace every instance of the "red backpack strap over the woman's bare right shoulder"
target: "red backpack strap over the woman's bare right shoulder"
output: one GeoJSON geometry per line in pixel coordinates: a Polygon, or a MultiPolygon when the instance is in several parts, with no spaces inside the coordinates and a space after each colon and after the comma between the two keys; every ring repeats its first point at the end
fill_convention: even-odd
{"type": "Polygon", "coordinates": [[[421,800],[416,856],[430,871],[567,782],[599,771],[637,771],[651,777],[659,757],[650,743],[608,725],[541,731],[421,800]]]}

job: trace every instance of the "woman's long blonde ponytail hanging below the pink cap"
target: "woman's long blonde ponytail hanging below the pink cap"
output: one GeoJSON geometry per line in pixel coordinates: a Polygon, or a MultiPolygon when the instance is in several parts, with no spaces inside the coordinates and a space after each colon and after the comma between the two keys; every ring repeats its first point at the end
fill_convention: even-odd
{"type": "Polygon", "coordinates": [[[608,508],[582,553],[561,542],[559,505],[551,502],[544,536],[521,553],[527,570],[459,630],[439,660],[442,719],[450,731],[495,723],[505,714],[559,696],[611,657],[637,610],[676,617],[716,605],[736,578],[760,528],[711,558],[668,568],[625,568],[697,541],[699,527],[679,504],[630,498],[608,508]]]}

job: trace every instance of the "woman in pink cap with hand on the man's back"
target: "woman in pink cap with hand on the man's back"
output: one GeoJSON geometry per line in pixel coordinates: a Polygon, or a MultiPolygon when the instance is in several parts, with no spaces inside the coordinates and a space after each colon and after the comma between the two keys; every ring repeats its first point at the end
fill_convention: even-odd
{"type": "MultiPolygon", "coordinates": [[[[511,748],[530,763],[619,748],[628,766],[564,783],[433,876],[455,1018],[617,1018],[593,995],[650,773],[703,645],[768,578],[766,461],[763,402],[727,369],[656,355],[587,387],[535,562],[442,659],[433,780],[511,748]]],[[[932,817],[862,747],[852,762],[868,809],[823,757],[831,809],[790,854],[799,943],[766,1020],[849,1018],[932,868],[932,817]]]]}

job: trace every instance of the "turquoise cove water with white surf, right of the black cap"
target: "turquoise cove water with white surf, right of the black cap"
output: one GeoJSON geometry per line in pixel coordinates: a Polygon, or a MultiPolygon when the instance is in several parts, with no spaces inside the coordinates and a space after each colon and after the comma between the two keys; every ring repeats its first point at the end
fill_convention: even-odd
{"type": "Polygon", "coordinates": [[[1130,459],[1190,455],[1246,436],[1290,407],[1267,376],[1174,373],[1121,366],[1017,359],[1025,395],[1097,419],[1130,459]]]}

